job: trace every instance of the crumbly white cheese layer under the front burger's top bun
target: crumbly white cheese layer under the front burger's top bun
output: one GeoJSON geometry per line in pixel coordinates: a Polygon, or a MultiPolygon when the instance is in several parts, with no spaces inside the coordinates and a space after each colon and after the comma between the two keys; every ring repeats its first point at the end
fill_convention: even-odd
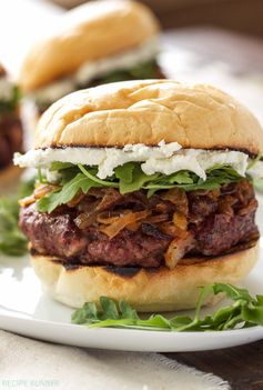
{"type": "Polygon", "coordinates": [[[16,153],[13,159],[14,164],[24,168],[48,169],[55,161],[98,166],[100,179],[112,176],[117,167],[130,161],[142,162],[142,171],[148,176],[156,172],[171,174],[190,170],[203,180],[206,179],[205,171],[215,164],[230,166],[243,177],[249,166],[247,154],[240,151],[183,149],[178,142],[164,143],[164,141],[161,141],[158,147],[128,144],[123,149],[71,147],[37,149],[26,154],[16,153]]]}

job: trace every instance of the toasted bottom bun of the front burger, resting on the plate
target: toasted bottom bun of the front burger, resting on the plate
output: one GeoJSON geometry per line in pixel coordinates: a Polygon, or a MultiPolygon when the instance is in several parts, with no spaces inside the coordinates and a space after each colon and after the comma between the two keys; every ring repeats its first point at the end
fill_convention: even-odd
{"type": "MultiPolygon", "coordinates": [[[[33,252],[33,250],[32,250],[33,252]]],[[[183,259],[173,269],[67,267],[61,260],[33,253],[32,266],[47,291],[72,308],[97,302],[101,296],[124,299],[138,311],[193,309],[199,288],[222,282],[236,284],[256,262],[259,244],[213,259],[183,259]]],[[[215,304],[222,297],[208,298],[215,304]]]]}

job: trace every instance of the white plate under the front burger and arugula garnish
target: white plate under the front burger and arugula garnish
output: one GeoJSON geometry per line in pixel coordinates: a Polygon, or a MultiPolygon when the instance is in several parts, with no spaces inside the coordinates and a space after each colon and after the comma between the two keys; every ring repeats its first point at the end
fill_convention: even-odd
{"type": "MultiPolygon", "coordinates": [[[[263,198],[260,199],[257,223],[262,230],[263,198]]],[[[262,276],[263,239],[261,239],[261,259],[243,286],[251,293],[263,293],[262,276]]],[[[78,347],[159,352],[220,349],[263,339],[263,327],[185,333],[88,329],[71,324],[71,309],[42,293],[41,286],[29,266],[28,257],[0,258],[0,328],[4,330],[78,347]]]]}

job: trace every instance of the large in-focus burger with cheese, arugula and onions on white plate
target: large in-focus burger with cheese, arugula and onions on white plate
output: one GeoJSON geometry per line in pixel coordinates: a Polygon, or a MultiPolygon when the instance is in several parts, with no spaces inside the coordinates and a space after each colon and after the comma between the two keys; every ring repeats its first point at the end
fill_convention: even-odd
{"type": "Polygon", "coordinates": [[[140,311],[193,308],[201,286],[237,283],[257,257],[262,150],[256,119],[210,86],[124,81],[64,97],[14,157],[39,170],[20,201],[37,276],[70,307],[107,296],[140,311]]]}

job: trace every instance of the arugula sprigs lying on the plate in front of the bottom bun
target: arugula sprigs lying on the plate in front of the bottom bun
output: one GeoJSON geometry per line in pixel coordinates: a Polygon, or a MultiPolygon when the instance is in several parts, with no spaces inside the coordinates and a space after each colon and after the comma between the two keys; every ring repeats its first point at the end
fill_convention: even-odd
{"type": "Polygon", "coordinates": [[[100,298],[100,306],[84,303],[71,317],[71,322],[90,328],[133,328],[140,330],[163,331],[211,331],[263,326],[263,296],[252,297],[246,289],[232,284],[213,283],[202,287],[196,303],[195,314],[174,316],[151,314],[148,319],[139,317],[136,311],[121,300],[114,302],[107,297],[100,298]],[[212,314],[201,317],[201,307],[210,294],[224,293],[232,304],[220,308],[212,314]]]}

